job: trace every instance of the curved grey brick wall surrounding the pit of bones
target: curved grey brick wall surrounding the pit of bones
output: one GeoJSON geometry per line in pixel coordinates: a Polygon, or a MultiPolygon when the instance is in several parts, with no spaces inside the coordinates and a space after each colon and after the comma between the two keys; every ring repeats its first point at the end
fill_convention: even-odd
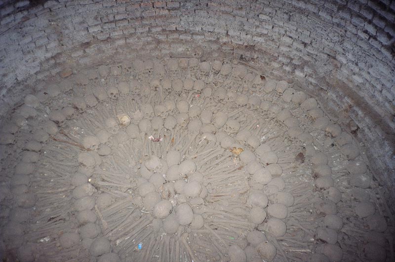
{"type": "Polygon", "coordinates": [[[23,94],[82,68],[223,54],[316,96],[368,145],[381,184],[394,185],[393,0],[1,0],[0,7],[1,115],[23,94]]]}

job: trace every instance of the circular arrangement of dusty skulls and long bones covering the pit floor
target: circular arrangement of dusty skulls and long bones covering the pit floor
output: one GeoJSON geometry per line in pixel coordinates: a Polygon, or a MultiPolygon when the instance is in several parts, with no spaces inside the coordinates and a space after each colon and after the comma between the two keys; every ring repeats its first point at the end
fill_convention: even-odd
{"type": "Polygon", "coordinates": [[[314,98],[229,61],[130,65],[72,75],[10,116],[0,136],[2,253],[386,259],[373,176],[314,98]]]}

